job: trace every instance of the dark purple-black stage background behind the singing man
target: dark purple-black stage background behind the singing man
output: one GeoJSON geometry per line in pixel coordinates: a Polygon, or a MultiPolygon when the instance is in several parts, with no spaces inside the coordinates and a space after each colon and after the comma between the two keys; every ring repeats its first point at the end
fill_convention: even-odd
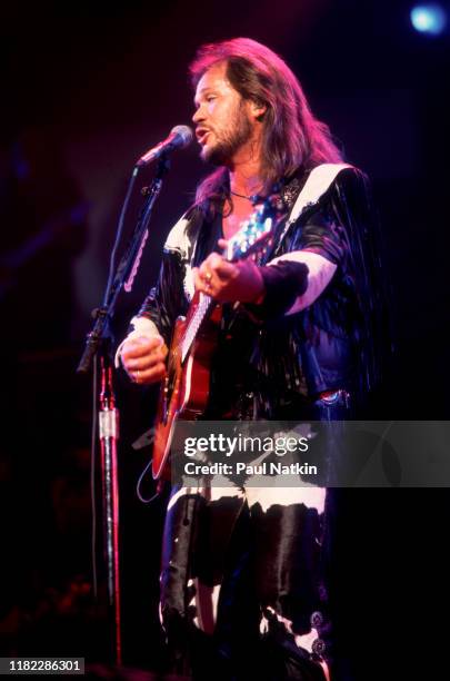
{"type": "MultiPolygon", "coordinates": [[[[0,23],[0,484],[7,547],[0,641],[4,654],[83,654],[89,639],[91,657],[104,660],[102,628],[86,636],[96,619],[89,596],[80,595],[90,581],[91,389],[74,368],[90,310],[101,302],[133,164],[173,125],[190,122],[187,65],[202,42],[248,36],[281,53],[297,72],[314,114],[373,181],[397,330],[390,415],[444,418],[450,34],[433,40],[414,33],[411,3],[403,1],[30,4],[3,7],[0,23]],[[78,205],[84,218],[68,220],[67,210],[78,205]],[[60,228],[52,230],[54,218],[60,228]],[[41,247],[11,267],[11,254],[36,235],[41,247]],[[68,593],[73,598],[66,608],[68,593]]],[[[169,227],[206,172],[197,154],[192,145],[173,157],[134,289],[119,304],[118,337],[154,282],[169,227]]],[[[147,170],[141,184],[150,177],[147,170]]],[[[128,230],[139,206],[137,195],[128,230]]],[[[154,396],[118,376],[118,397],[126,662],[156,667],[163,507],[137,501],[134,484],[148,451],[130,447],[151,423],[154,396]]],[[[358,648],[347,654],[382,664],[388,650],[398,653],[399,630],[410,642],[423,635],[447,590],[439,580],[447,492],[388,492],[357,491],[343,502],[349,529],[342,540],[342,619],[348,632],[357,631],[358,648]],[[356,516],[366,519],[359,531],[356,516]]]]}

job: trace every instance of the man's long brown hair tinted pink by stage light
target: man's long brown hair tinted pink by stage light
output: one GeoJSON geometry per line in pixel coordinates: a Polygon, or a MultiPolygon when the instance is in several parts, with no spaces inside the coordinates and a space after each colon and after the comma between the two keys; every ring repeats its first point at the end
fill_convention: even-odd
{"type": "MultiPolygon", "coordinates": [[[[227,63],[227,77],[241,97],[267,107],[262,119],[266,191],[299,169],[342,160],[328,126],[314,118],[300,82],[281,57],[250,38],[203,45],[189,67],[193,87],[221,61],[227,63]]],[[[196,203],[223,196],[227,185],[227,169],[218,168],[200,182],[196,203]]]]}

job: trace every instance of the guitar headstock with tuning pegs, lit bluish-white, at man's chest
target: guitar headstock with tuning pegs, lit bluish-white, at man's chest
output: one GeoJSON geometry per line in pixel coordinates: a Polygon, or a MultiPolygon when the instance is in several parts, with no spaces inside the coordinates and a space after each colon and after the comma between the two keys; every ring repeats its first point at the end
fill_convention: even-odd
{"type": "Polygon", "coordinates": [[[228,240],[224,257],[228,260],[241,260],[262,255],[271,245],[273,227],[279,219],[279,195],[267,198],[256,197],[254,210],[250,218],[242,223],[239,231],[228,240]]]}

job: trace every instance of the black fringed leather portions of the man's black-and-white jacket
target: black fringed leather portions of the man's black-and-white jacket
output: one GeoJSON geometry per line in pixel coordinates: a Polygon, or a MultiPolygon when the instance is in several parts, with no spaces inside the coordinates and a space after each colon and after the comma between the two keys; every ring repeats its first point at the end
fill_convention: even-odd
{"type": "MultiPolygon", "coordinates": [[[[287,213],[304,180],[294,177],[281,190],[287,213]]],[[[184,247],[167,245],[158,284],[139,313],[154,322],[168,344],[174,319],[189,306],[187,270],[198,266],[221,236],[220,210],[211,218],[197,206],[186,219],[188,240],[184,247]]],[[[319,298],[293,315],[224,306],[206,417],[291,418],[324,391],[344,389],[361,398],[373,387],[384,325],[374,223],[367,177],[349,168],[281,238],[286,220],[278,225],[267,259],[308,249],[336,264],[337,270],[319,298]]]]}

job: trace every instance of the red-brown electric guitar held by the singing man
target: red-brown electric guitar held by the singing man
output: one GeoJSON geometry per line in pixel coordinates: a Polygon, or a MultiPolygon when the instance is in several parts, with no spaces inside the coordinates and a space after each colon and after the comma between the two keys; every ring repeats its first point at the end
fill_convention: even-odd
{"type": "MultiPolygon", "coordinates": [[[[257,205],[251,217],[228,241],[224,257],[236,263],[257,259],[271,246],[278,221],[277,195],[257,205]]],[[[178,317],[161,385],[154,424],[153,478],[169,477],[168,458],[177,420],[197,421],[209,398],[210,362],[217,346],[222,306],[196,290],[186,317],[178,317]]]]}

